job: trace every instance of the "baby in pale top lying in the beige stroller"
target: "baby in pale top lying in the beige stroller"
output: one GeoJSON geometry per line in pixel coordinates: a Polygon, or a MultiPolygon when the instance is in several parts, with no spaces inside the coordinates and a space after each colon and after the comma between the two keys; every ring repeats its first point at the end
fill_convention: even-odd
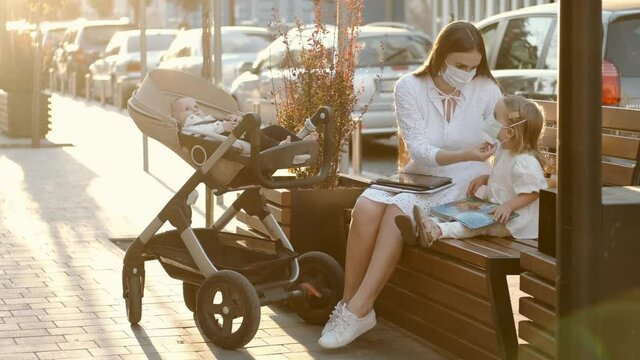
{"type": "MultiPolygon", "coordinates": [[[[190,97],[182,97],[174,101],[171,104],[171,116],[178,121],[182,129],[203,135],[211,133],[228,135],[242,120],[241,116],[234,114],[229,114],[222,119],[214,119],[200,110],[198,102],[190,97]]],[[[270,125],[260,130],[260,151],[301,140],[317,141],[318,133],[313,131],[301,139],[282,126],[270,125]]]]}

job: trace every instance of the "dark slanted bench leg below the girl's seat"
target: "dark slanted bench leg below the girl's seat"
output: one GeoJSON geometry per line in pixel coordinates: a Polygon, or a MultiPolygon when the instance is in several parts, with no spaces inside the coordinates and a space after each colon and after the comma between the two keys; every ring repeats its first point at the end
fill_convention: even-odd
{"type": "Polygon", "coordinates": [[[507,284],[508,271],[500,265],[500,262],[491,259],[487,261],[487,289],[492,301],[491,312],[496,325],[500,358],[515,360],[518,357],[518,337],[507,284]]]}

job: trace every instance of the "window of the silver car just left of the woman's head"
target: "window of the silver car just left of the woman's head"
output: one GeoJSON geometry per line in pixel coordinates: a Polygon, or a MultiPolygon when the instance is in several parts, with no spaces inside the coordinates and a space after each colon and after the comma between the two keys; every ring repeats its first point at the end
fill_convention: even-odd
{"type": "Polygon", "coordinates": [[[361,38],[358,67],[422,64],[430,45],[415,35],[361,38]]]}

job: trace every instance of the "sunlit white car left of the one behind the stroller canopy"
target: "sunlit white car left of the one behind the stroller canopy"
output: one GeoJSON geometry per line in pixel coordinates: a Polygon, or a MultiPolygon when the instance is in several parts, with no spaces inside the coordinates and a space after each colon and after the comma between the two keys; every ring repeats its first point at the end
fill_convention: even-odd
{"type": "MultiPolygon", "coordinates": [[[[160,56],[175,40],[178,30],[148,29],[147,70],[154,69],[160,63],[160,56]]],[[[106,98],[113,99],[116,84],[121,85],[121,99],[124,102],[131,97],[133,90],[141,80],[140,30],[116,32],[102,54],[89,65],[91,73],[91,93],[98,96],[104,92],[106,98]]]]}

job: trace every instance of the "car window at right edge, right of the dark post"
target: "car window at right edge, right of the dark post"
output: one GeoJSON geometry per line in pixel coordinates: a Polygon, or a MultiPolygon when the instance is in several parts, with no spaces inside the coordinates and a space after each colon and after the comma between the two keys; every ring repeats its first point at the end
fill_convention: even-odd
{"type": "Polygon", "coordinates": [[[640,76],[640,16],[623,17],[609,24],[605,59],[622,76],[640,76]]]}

